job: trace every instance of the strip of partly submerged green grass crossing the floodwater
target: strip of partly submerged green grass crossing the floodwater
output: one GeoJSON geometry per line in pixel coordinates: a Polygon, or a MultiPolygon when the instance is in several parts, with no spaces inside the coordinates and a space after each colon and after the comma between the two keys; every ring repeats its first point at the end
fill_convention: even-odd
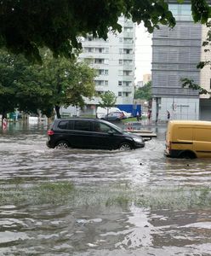
{"type": "Polygon", "coordinates": [[[0,185],[0,204],[59,204],[71,207],[128,207],[132,204],[157,209],[211,207],[210,187],[140,188],[128,184],[104,187],[76,187],[71,182],[43,182],[26,185],[23,181],[0,185]]]}

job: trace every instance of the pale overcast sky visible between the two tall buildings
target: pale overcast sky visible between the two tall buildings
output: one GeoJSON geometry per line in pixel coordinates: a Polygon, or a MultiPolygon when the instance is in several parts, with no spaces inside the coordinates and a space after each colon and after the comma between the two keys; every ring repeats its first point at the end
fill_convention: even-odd
{"type": "Polygon", "coordinates": [[[135,81],[142,81],[143,74],[151,73],[151,34],[143,25],[136,26],[135,81]]]}

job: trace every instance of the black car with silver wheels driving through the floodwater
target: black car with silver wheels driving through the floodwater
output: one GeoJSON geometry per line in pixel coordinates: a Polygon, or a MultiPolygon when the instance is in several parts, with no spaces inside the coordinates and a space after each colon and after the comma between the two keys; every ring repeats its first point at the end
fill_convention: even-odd
{"type": "Polygon", "coordinates": [[[48,148],[134,149],[145,141],[100,119],[55,119],[48,130],[48,148]]]}

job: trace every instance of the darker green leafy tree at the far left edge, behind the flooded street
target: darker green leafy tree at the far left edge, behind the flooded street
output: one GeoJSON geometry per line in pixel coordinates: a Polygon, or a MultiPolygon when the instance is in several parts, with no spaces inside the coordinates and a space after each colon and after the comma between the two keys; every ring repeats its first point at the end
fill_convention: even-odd
{"type": "Polygon", "coordinates": [[[51,93],[38,78],[37,70],[23,55],[10,55],[3,49],[0,51],[0,68],[0,113],[3,118],[14,108],[36,113],[43,96],[51,93]]]}

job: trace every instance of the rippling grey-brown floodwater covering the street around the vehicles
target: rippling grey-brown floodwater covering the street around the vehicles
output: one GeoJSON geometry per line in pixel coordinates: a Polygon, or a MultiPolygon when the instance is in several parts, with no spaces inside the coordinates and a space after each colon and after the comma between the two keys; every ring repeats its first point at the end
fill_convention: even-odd
{"type": "Polygon", "coordinates": [[[0,255],[211,255],[211,162],[49,149],[46,125],[0,133],[0,255]]]}

